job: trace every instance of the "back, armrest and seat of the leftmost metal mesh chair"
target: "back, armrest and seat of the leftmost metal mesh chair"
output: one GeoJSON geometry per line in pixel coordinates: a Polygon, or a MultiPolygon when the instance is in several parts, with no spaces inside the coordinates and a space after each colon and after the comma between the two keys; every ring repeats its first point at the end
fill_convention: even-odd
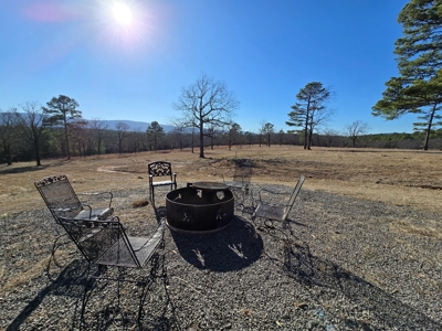
{"type": "Polygon", "coordinates": [[[106,220],[114,213],[112,207],[113,194],[110,192],[81,193],[78,195],[108,194],[108,206],[93,209],[83,204],[65,174],[46,177],[34,182],[52,216],[59,222],[59,217],[106,220]]]}

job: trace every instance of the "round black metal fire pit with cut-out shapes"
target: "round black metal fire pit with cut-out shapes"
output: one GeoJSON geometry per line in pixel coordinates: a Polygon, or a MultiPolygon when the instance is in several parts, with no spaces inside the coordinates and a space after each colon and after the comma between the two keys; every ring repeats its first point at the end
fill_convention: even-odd
{"type": "Polygon", "coordinates": [[[173,231],[213,232],[232,222],[234,199],[222,183],[188,183],[167,194],[166,209],[167,224],[173,231]]]}

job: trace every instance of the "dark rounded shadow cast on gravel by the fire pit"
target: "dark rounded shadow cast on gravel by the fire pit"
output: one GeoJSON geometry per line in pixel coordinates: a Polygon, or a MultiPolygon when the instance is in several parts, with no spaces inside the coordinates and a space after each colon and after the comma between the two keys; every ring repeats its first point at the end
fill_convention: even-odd
{"type": "Polygon", "coordinates": [[[239,216],[233,216],[228,227],[210,234],[170,233],[180,255],[189,264],[219,273],[250,266],[264,248],[254,227],[239,216]]]}

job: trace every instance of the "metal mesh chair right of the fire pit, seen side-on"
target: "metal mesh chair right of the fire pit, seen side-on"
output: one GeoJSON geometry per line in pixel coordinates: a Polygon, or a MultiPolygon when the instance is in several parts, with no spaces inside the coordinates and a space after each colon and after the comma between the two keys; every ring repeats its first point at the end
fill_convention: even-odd
{"type": "Polygon", "coordinates": [[[254,221],[256,217],[264,218],[264,224],[269,227],[273,227],[273,221],[285,221],[295,203],[296,196],[298,195],[304,181],[305,177],[299,175],[296,186],[291,194],[287,194],[286,192],[274,192],[266,189],[260,190],[260,203],[252,215],[252,220],[254,221]],[[271,197],[271,201],[264,199],[264,194],[271,197]]]}

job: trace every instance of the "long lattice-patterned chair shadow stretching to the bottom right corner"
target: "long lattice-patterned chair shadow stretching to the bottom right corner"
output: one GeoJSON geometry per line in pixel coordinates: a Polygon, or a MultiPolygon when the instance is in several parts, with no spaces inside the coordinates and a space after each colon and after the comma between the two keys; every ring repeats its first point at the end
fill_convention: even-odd
{"type": "MultiPolygon", "coordinates": [[[[442,330],[442,324],[396,299],[338,265],[311,254],[307,244],[284,244],[283,269],[288,277],[307,286],[320,286],[341,292],[352,302],[367,307],[388,328],[398,330],[442,330]]],[[[370,330],[359,320],[346,320],[351,329],[370,330]]]]}

